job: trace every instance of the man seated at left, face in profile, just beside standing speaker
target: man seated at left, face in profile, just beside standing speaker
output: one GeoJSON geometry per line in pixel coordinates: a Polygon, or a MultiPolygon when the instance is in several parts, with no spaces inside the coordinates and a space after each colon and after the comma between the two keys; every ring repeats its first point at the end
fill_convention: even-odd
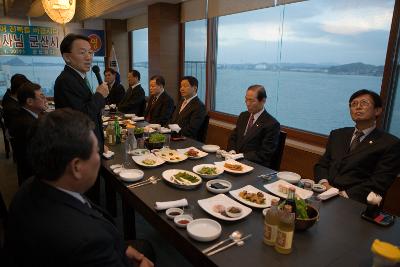
{"type": "Polygon", "coordinates": [[[27,156],[30,130],[36,123],[38,116],[46,111],[47,100],[40,85],[26,82],[18,89],[18,102],[21,109],[11,123],[10,133],[14,137],[18,185],[21,185],[33,175],[27,156]]]}

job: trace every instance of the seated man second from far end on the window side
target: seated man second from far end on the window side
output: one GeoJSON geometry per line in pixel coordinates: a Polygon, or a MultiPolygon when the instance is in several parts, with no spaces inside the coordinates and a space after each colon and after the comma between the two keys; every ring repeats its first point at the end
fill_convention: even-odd
{"type": "Polygon", "coordinates": [[[125,97],[118,105],[118,110],[123,113],[133,113],[136,116],[143,116],[146,106],[146,99],[142,85],[140,84],[140,72],[131,70],[128,72],[129,88],[125,97]]]}

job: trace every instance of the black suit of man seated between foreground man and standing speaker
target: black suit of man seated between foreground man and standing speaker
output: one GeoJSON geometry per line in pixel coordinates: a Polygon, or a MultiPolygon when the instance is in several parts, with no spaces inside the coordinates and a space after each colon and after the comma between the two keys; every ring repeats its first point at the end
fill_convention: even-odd
{"type": "Polygon", "coordinates": [[[37,119],[24,108],[21,108],[15,120],[11,123],[10,134],[13,136],[13,149],[17,160],[18,184],[33,175],[29,163],[27,148],[30,142],[30,131],[37,122],[37,119]]]}

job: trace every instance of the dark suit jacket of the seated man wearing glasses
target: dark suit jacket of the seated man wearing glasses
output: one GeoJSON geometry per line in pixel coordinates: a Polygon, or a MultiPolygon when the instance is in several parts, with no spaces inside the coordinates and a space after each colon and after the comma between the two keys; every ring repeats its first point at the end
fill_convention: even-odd
{"type": "Polygon", "coordinates": [[[375,129],[349,152],[353,132],[348,127],[330,133],[326,151],[314,167],[314,178],[327,179],[350,198],[365,203],[371,191],[384,196],[400,173],[400,140],[375,129]]]}

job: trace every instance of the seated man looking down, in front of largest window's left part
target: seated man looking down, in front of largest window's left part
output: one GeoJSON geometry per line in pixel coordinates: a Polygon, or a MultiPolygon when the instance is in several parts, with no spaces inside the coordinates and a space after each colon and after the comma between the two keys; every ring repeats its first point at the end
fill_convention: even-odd
{"type": "Polygon", "coordinates": [[[264,109],[266,101],[264,86],[252,85],[247,89],[247,111],[239,115],[228,140],[228,151],[243,153],[245,159],[269,167],[278,147],[280,124],[264,109]]]}

